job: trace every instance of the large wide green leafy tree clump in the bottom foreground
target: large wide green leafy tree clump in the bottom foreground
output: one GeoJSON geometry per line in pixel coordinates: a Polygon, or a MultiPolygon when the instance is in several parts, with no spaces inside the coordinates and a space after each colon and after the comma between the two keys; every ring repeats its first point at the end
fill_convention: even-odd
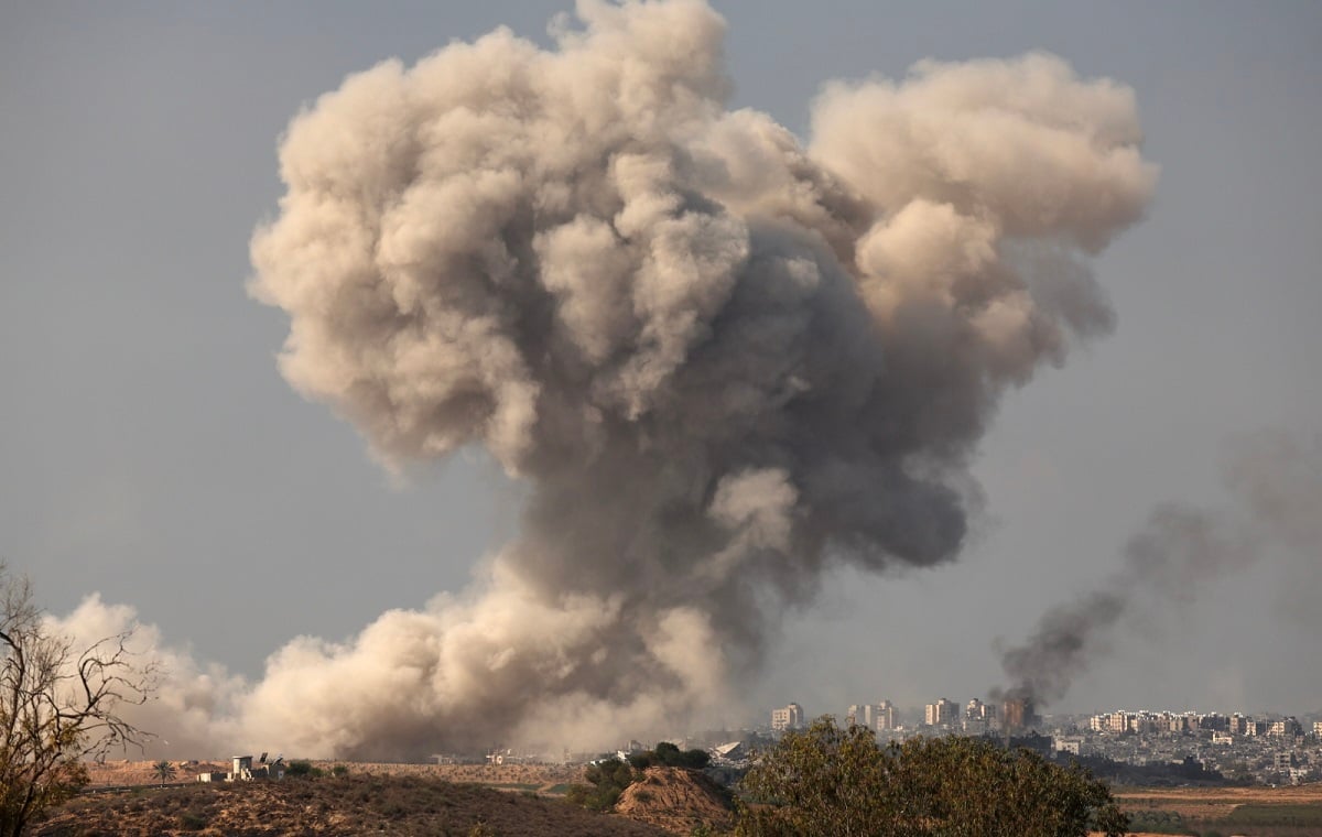
{"type": "Polygon", "coordinates": [[[789,733],[744,777],[736,833],[1083,837],[1128,829],[1105,784],[1077,766],[977,738],[879,747],[829,715],[789,733]]]}

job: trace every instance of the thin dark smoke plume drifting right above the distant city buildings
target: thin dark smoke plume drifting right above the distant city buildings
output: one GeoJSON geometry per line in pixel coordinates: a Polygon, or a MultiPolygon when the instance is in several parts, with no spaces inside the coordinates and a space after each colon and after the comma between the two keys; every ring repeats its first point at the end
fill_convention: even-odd
{"type": "MultiPolygon", "coordinates": [[[[1210,579],[1322,554],[1322,444],[1264,431],[1232,446],[1224,509],[1158,506],[1125,547],[1124,567],[1097,590],[1047,611],[1032,635],[1002,653],[1007,697],[1046,705],[1108,651],[1117,624],[1187,603],[1210,579]]],[[[1289,574],[1288,574],[1289,575],[1289,574]]],[[[997,694],[997,692],[993,692],[997,694]]]]}

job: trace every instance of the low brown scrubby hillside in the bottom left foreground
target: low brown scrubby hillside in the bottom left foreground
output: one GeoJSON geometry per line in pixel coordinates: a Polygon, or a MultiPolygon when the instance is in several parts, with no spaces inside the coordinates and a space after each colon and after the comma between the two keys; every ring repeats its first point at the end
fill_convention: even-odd
{"type": "Polygon", "coordinates": [[[350,775],[189,784],[71,800],[37,837],[267,837],[276,834],[661,837],[656,826],[558,799],[422,776],[350,775]]]}

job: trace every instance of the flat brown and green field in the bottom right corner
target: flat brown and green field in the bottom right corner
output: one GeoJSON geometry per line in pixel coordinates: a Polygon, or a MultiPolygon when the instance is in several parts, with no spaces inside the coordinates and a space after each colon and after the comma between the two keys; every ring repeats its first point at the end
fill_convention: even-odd
{"type": "Polygon", "coordinates": [[[1285,788],[1121,788],[1137,832],[1198,837],[1317,837],[1322,785],[1285,788]]]}

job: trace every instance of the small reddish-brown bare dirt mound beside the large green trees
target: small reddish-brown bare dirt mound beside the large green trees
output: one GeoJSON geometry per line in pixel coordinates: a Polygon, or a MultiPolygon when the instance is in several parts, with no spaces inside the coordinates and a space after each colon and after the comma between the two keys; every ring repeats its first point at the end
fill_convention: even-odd
{"type": "Polygon", "coordinates": [[[699,771],[683,767],[649,767],[620,796],[615,812],[674,834],[689,834],[699,825],[724,829],[734,825],[730,792],[699,771]]]}

